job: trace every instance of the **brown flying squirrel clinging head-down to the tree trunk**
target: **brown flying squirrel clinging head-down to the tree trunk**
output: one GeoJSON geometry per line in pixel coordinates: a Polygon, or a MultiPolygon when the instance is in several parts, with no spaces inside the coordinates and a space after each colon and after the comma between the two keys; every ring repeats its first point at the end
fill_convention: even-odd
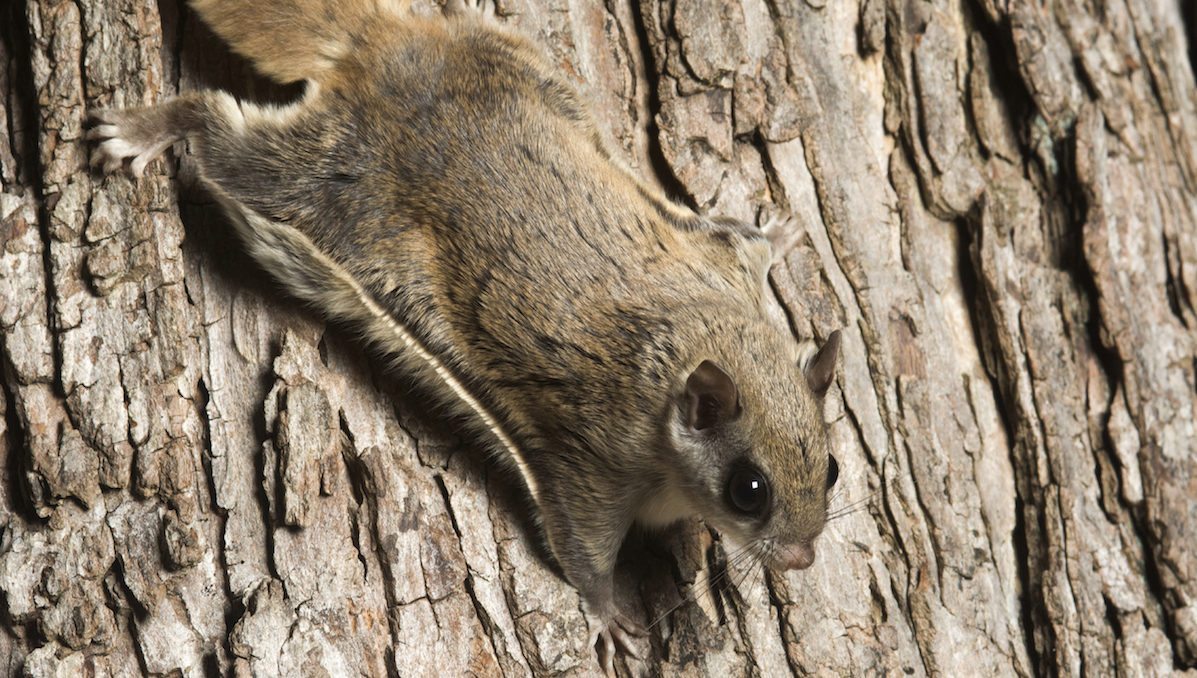
{"type": "Polygon", "coordinates": [[[190,0],[303,97],[95,111],[92,162],[139,176],[188,140],[253,259],[518,472],[609,671],[644,632],[612,589],[632,525],[697,514],[773,569],[814,561],[839,332],[766,313],[786,222],[672,202],[533,43],[449,4],[190,0]]]}

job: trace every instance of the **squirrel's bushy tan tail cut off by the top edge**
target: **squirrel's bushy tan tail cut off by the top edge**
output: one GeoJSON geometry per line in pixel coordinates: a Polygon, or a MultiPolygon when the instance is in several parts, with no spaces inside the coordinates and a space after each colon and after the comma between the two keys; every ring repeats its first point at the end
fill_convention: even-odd
{"type": "Polygon", "coordinates": [[[235,52],[279,83],[318,79],[379,18],[408,14],[411,0],[190,0],[235,52]]]}

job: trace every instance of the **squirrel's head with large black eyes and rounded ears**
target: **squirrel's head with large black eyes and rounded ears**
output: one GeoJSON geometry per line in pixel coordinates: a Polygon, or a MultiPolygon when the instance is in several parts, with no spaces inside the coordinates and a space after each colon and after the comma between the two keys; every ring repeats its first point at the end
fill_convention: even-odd
{"type": "Polygon", "coordinates": [[[771,327],[703,358],[681,380],[667,454],[686,503],[745,553],[777,570],[814,562],[839,476],[822,401],[836,375],[839,331],[796,347],[771,327]]]}

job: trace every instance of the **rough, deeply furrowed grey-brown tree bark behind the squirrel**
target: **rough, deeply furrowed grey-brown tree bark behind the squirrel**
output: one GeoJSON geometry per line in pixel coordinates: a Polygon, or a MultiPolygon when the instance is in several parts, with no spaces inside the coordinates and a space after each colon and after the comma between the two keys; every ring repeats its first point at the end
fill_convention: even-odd
{"type": "MultiPolygon", "coordinates": [[[[779,308],[846,328],[827,416],[865,508],[718,595],[700,525],[633,538],[633,617],[699,595],[621,671],[1197,666],[1185,13],[500,4],[679,199],[798,214],[779,308]]],[[[0,34],[0,672],[591,672],[512,479],[280,298],[186,153],[85,169],[90,107],[296,92],[177,0],[8,0],[0,34]]]]}

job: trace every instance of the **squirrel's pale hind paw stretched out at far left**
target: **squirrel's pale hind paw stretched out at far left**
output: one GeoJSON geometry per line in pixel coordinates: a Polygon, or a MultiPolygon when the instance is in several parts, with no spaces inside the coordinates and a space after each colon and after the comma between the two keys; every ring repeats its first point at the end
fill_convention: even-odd
{"type": "Polygon", "coordinates": [[[93,110],[89,115],[87,139],[97,141],[91,152],[91,167],[111,174],[132,159],[129,171],[141,176],[150,161],[180,139],[177,134],[152,123],[145,111],[93,110]]]}

